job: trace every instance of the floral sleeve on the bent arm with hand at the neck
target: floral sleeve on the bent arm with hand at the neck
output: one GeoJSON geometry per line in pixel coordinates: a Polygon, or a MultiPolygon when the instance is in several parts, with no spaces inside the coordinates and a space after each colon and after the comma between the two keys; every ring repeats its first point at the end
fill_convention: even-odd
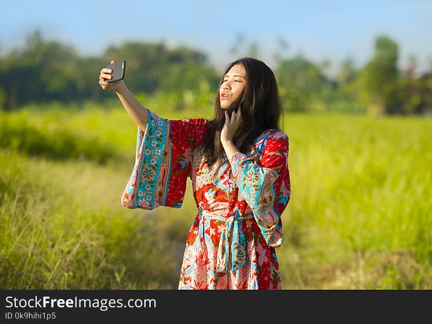
{"type": "Polygon", "coordinates": [[[281,215],[291,197],[288,150],[287,134],[277,130],[267,139],[259,162],[242,152],[230,159],[239,192],[271,247],[282,244],[281,215]]]}

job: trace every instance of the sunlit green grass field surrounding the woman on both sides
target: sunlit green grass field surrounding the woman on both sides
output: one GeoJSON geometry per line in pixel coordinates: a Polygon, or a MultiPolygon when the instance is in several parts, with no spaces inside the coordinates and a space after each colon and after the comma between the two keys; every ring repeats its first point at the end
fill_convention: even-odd
{"type": "MultiPolygon", "coordinates": [[[[431,129],[419,117],[286,114],[284,289],[432,288],[431,129]]],[[[135,136],[121,104],[0,114],[1,289],[177,288],[191,184],[180,209],[121,206],[135,136]]]]}

